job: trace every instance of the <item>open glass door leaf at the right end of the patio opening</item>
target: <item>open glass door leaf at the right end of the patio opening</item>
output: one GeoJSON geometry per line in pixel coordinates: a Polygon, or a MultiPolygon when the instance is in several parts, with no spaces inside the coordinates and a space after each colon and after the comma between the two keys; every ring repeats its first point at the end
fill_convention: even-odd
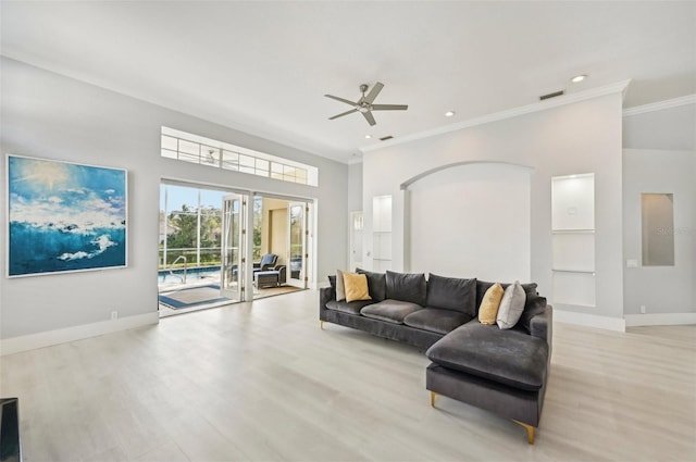
{"type": "Polygon", "coordinates": [[[288,255],[287,284],[307,288],[307,204],[290,202],[287,207],[288,255]]]}

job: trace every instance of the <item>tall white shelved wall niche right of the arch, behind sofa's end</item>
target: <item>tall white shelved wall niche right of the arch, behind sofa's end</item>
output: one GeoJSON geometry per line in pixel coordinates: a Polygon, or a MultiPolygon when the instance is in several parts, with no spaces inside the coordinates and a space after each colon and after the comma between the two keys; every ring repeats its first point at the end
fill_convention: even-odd
{"type": "Polygon", "coordinates": [[[551,178],[554,302],[595,305],[595,174],[551,178]]]}

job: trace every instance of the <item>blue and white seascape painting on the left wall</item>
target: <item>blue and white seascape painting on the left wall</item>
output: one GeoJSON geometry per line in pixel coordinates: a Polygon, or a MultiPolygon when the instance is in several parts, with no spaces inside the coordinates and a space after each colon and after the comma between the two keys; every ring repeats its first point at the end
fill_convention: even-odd
{"type": "Polygon", "coordinates": [[[8,275],[126,265],[125,170],[8,155],[8,275]]]}

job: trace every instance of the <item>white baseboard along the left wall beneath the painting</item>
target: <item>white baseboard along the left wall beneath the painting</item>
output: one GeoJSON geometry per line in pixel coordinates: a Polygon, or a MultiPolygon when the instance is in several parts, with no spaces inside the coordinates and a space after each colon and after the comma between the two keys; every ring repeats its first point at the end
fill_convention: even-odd
{"type": "Polygon", "coordinates": [[[97,337],[99,335],[112,334],[150,324],[158,324],[159,322],[160,314],[154,311],[152,313],[120,317],[117,320],[102,321],[99,323],[84,324],[38,334],[24,335],[21,337],[5,338],[0,340],[0,355],[3,357],[37,348],[50,347],[51,345],[82,340],[84,338],[97,337]]]}

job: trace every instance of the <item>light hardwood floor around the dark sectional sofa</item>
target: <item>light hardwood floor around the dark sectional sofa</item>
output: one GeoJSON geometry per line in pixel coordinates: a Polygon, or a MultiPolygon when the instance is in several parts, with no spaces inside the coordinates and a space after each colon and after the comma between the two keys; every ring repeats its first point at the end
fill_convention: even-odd
{"type": "Polygon", "coordinates": [[[25,461],[694,461],[696,327],[556,324],[536,444],[306,290],[4,357],[25,461]]]}

